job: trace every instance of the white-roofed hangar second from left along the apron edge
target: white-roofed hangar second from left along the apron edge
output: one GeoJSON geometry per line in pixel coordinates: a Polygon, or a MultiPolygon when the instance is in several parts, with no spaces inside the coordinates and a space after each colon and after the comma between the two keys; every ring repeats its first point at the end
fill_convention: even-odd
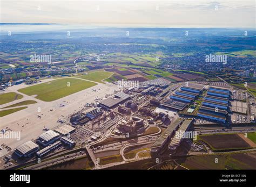
{"type": "Polygon", "coordinates": [[[54,131],[46,131],[45,133],[39,135],[37,142],[42,146],[49,146],[50,144],[56,142],[60,139],[60,135],[54,131]]]}

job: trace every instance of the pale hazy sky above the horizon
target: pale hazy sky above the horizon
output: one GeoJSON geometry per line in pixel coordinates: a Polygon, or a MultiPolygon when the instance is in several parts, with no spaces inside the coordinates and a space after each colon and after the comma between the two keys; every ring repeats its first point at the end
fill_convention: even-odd
{"type": "Polygon", "coordinates": [[[255,27],[255,0],[0,0],[1,23],[255,27]]]}

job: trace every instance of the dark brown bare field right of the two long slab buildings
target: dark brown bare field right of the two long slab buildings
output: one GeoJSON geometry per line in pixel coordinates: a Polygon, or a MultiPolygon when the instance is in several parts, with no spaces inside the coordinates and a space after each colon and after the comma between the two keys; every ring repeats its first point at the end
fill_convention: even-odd
{"type": "Polygon", "coordinates": [[[199,135],[212,150],[249,149],[251,146],[238,134],[208,134],[199,135]]]}

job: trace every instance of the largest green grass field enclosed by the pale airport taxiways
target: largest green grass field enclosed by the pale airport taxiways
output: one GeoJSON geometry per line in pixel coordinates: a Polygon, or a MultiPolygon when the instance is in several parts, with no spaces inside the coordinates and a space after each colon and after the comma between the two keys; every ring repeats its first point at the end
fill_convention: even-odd
{"type": "Polygon", "coordinates": [[[72,93],[84,90],[97,85],[96,83],[83,81],[76,78],[60,78],[50,82],[33,85],[18,90],[26,95],[37,95],[36,98],[45,102],[51,102],[72,93]],[[70,85],[70,86],[69,86],[70,85]]]}

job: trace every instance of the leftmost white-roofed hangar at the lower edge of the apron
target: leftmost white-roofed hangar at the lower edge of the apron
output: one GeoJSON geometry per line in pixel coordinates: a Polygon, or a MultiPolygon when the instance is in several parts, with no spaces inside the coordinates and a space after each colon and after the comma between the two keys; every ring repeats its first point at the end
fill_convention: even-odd
{"type": "Polygon", "coordinates": [[[33,154],[35,154],[38,150],[39,146],[36,143],[28,141],[18,146],[14,153],[18,157],[30,157],[33,154]]]}

